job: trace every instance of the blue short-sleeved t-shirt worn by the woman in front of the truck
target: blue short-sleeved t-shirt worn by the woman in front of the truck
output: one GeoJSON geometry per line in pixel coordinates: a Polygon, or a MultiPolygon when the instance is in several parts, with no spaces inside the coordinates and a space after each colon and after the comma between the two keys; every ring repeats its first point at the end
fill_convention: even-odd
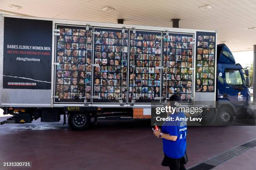
{"type": "Polygon", "coordinates": [[[180,120],[180,118],[185,118],[185,115],[183,112],[179,112],[174,113],[169,117],[173,117],[174,121],[164,122],[161,132],[172,136],[177,136],[177,140],[173,141],[162,138],[164,154],[169,158],[182,158],[187,147],[187,122],[180,120]],[[175,121],[177,117],[179,120],[175,121]]]}

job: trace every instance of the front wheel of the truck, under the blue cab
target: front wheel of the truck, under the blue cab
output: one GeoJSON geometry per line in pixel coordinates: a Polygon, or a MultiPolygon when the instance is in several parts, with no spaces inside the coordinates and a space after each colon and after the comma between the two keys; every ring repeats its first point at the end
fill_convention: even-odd
{"type": "Polygon", "coordinates": [[[226,108],[220,108],[216,117],[218,125],[228,126],[233,121],[233,114],[226,108]]]}

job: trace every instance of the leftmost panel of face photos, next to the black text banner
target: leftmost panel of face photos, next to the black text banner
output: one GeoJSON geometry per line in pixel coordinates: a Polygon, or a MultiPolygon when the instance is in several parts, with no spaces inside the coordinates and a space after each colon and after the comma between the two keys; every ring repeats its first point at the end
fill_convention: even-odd
{"type": "Polygon", "coordinates": [[[56,36],[55,102],[90,102],[92,81],[92,28],[58,25],[56,36]]]}

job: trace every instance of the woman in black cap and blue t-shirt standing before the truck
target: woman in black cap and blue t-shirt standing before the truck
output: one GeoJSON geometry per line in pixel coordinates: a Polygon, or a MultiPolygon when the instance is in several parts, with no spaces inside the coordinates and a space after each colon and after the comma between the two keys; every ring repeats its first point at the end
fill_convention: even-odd
{"type": "MultiPolygon", "coordinates": [[[[181,102],[181,98],[174,94],[169,101],[181,102]]],[[[169,102],[168,106],[176,107],[169,102]]],[[[184,118],[183,112],[167,112],[174,120],[184,118]]],[[[162,166],[169,166],[170,170],[186,170],[184,164],[187,163],[187,122],[186,121],[166,121],[159,130],[154,130],[154,135],[163,140],[164,159],[162,166]]]]}

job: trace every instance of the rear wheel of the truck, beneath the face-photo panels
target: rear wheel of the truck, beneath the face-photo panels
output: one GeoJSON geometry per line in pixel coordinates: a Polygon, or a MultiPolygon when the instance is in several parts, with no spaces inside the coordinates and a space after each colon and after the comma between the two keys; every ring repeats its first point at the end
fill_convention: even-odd
{"type": "Polygon", "coordinates": [[[74,113],[69,115],[69,126],[72,130],[86,130],[91,123],[91,117],[85,113],[74,113]]]}

